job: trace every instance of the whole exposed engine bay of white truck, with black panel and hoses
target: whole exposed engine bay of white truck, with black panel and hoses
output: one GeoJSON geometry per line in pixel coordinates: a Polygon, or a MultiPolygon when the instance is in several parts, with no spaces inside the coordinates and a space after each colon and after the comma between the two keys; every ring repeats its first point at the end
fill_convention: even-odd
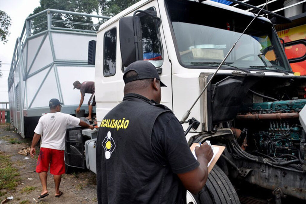
{"type": "MultiPolygon", "coordinates": [[[[205,77],[210,76],[200,75],[199,81],[205,83],[205,77]]],[[[204,115],[203,132],[189,143],[208,139],[226,146],[217,165],[234,183],[306,199],[306,141],[299,119],[306,105],[305,77],[218,74],[204,97],[207,120],[204,115]]]]}

